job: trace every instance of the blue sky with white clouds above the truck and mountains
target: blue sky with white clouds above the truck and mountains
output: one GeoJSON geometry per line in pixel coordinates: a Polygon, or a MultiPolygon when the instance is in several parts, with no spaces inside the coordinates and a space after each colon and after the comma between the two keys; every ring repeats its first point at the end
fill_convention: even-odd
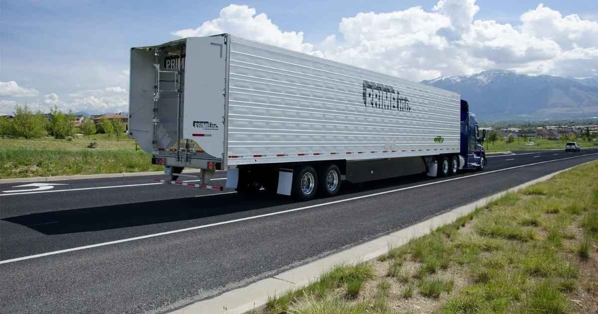
{"type": "MultiPolygon", "coordinates": [[[[393,53],[398,53],[397,51],[407,51],[410,56],[417,56],[419,53],[415,47],[425,45],[427,47],[425,55],[434,62],[430,61],[426,64],[426,60],[426,62],[420,61],[420,65],[410,64],[411,59],[414,59],[411,57],[407,60],[397,60],[396,62],[400,63],[396,65],[385,65],[395,69],[390,74],[406,78],[423,80],[439,75],[472,74],[488,68],[511,69],[529,74],[572,76],[596,74],[595,71],[591,72],[591,69],[598,68],[596,62],[598,44],[588,44],[591,39],[596,39],[598,42],[598,31],[594,28],[594,24],[598,27],[596,1],[446,0],[444,7],[441,5],[443,1],[445,0],[440,2],[344,0],[325,1],[325,3],[322,3],[324,1],[243,1],[235,4],[246,5],[239,9],[241,11],[255,8],[254,17],[261,13],[267,14],[271,24],[277,26],[280,32],[303,32],[302,37],[297,36],[295,39],[301,44],[309,44],[309,47],[301,46],[301,51],[358,66],[368,66],[367,62],[375,62],[380,57],[392,57],[393,53]],[[457,5],[456,11],[449,10],[449,2],[457,5]],[[542,17],[541,10],[537,10],[540,3],[544,4],[544,11],[542,11],[544,16],[548,14],[549,17],[542,17]],[[421,6],[422,9],[410,10],[417,6],[421,6]],[[435,10],[435,6],[443,8],[435,10]],[[478,9],[474,10],[475,7],[478,9]],[[550,11],[545,8],[550,8],[550,11]],[[522,14],[532,10],[536,10],[535,15],[529,20],[537,23],[530,22],[528,24],[531,26],[526,26],[526,30],[521,29],[522,14]],[[358,16],[359,13],[368,12],[375,14],[369,17],[358,16]],[[550,14],[555,12],[563,18],[550,17],[550,14]],[[386,20],[385,14],[391,13],[395,14],[394,17],[386,20]],[[438,24],[438,28],[451,29],[457,38],[468,41],[467,50],[457,48],[463,47],[463,42],[457,44],[457,41],[454,44],[444,42],[438,46],[432,38],[434,34],[440,33],[438,29],[414,30],[413,33],[428,34],[426,36],[430,41],[424,39],[424,42],[413,44],[414,37],[408,36],[410,34],[404,30],[413,29],[413,25],[427,23],[417,19],[422,18],[422,14],[434,13],[437,13],[436,16],[430,18],[438,24]],[[578,20],[565,19],[570,14],[576,14],[578,20]],[[350,19],[344,24],[351,26],[350,31],[342,30],[343,18],[350,19]],[[542,23],[538,22],[541,18],[544,19],[542,23],[545,23],[546,19],[553,19],[554,25],[557,25],[565,34],[563,36],[570,33],[568,29],[578,29],[576,25],[581,25],[585,29],[578,36],[581,38],[579,42],[574,42],[577,39],[563,39],[564,37],[558,38],[556,35],[552,38],[552,35],[541,33],[542,23]],[[372,19],[378,22],[368,24],[372,19]],[[450,22],[446,22],[448,20],[450,22]],[[467,22],[465,26],[458,26],[461,20],[467,22]],[[496,25],[486,23],[485,26],[475,26],[476,20],[486,22],[494,20],[496,25]],[[563,21],[571,25],[565,25],[563,21]],[[488,34],[493,32],[492,28],[502,29],[503,33],[513,32],[511,29],[504,30],[505,25],[508,24],[517,32],[515,37],[521,35],[521,41],[534,42],[534,44],[530,44],[527,50],[517,50],[518,48],[515,48],[515,45],[519,45],[517,42],[508,42],[509,37],[514,36],[488,34]],[[364,40],[369,40],[370,43],[379,40],[371,35],[377,31],[377,28],[382,28],[380,31],[388,28],[386,31],[391,32],[397,29],[403,30],[392,35],[392,38],[386,38],[386,42],[398,38],[405,40],[397,41],[392,49],[382,54],[364,50],[364,40]],[[364,29],[370,29],[369,33],[360,31],[364,29]],[[331,38],[331,35],[334,35],[334,38],[331,38]],[[355,38],[350,39],[352,36],[361,39],[359,41],[355,38]],[[488,38],[489,36],[495,37],[488,38]],[[526,39],[526,36],[531,36],[533,40],[526,39]],[[550,37],[548,39],[556,44],[545,40],[547,39],[545,36],[550,37]],[[405,41],[412,44],[405,46],[405,41]],[[478,47],[475,44],[478,41],[486,41],[485,46],[478,47]],[[581,47],[585,50],[579,51],[573,47],[581,47]],[[438,59],[442,54],[433,53],[435,50],[440,50],[446,54],[447,49],[454,49],[454,56],[460,54],[462,56],[458,61],[444,62],[438,59]],[[508,49],[514,52],[507,51],[508,49]],[[497,51],[500,57],[493,56],[497,51]],[[512,56],[508,57],[510,54],[512,56]],[[358,57],[355,57],[356,55],[358,57]],[[471,60],[463,62],[463,56],[471,60]],[[578,62],[581,59],[585,61],[578,62]],[[588,59],[590,62],[587,61],[588,59]],[[579,66],[587,68],[590,72],[573,70],[579,66]]],[[[32,108],[41,110],[57,105],[74,111],[78,109],[90,112],[126,111],[128,89],[126,71],[129,68],[129,48],[176,39],[178,36],[173,32],[182,29],[196,29],[194,35],[203,35],[205,31],[198,29],[202,23],[218,19],[222,10],[230,8],[229,5],[229,2],[213,1],[2,0],[0,2],[0,113],[11,112],[16,103],[28,103],[32,108]]],[[[240,14],[239,10],[236,14],[240,14]]],[[[251,12],[249,14],[251,15],[251,12]]],[[[222,31],[236,33],[233,31],[239,28],[239,25],[236,22],[232,23],[232,19],[234,16],[231,15],[219,20],[215,25],[218,25],[222,31]]],[[[264,38],[260,37],[260,34],[267,33],[260,31],[261,22],[245,19],[240,23],[257,25],[253,33],[240,34],[242,36],[254,36],[255,38],[252,39],[259,40],[264,38]]],[[[264,28],[273,32],[271,25],[265,25],[264,28]]],[[[243,29],[237,32],[243,32],[243,29]]],[[[270,35],[266,40],[273,44],[278,43],[276,39],[278,33],[267,34],[270,35]]],[[[442,40],[449,39],[446,37],[442,40]]],[[[280,41],[280,45],[285,47],[286,44],[280,41]]],[[[287,48],[294,47],[297,46],[287,48]]],[[[299,50],[299,48],[294,49],[299,50]]]]}

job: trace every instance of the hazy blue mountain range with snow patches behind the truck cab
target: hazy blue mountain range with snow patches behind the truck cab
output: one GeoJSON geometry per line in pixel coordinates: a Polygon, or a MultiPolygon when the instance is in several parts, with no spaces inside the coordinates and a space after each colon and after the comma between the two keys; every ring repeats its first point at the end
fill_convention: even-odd
{"type": "Polygon", "coordinates": [[[565,78],[491,70],[422,81],[461,94],[480,120],[550,120],[598,116],[598,75],[565,78]]]}

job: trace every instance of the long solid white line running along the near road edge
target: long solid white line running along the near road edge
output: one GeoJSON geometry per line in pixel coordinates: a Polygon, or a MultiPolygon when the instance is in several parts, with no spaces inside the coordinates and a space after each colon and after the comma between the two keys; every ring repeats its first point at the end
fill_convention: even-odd
{"type": "MultiPolygon", "coordinates": [[[[35,254],[35,255],[28,255],[28,256],[23,256],[23,257],[11,258],[10,260],[0,261],[0,264],[7,264],[7,263],[13,263],[13,262],[16,262],[16,261],[30,260],[32,258],[45,257],[45,256],[49,256],[49,255],[56,255],[56,254],[62,254],[62,253],[67,253],[67,252],[73,252],[73,251],[80,251],[82,249],[97,248],[99,246],[106,246],[106,245],[112,245],[112,244],[118,244],[118,243],[124,243],[124,242],[131,242],[131,241],[135,241],[135,240],[148,239],[150,237],[166,236],[167,234],[181,233],[181,232],[185,232],[185,231],[205,229],[205,228],[209,228],[209,227],[215,227],[216,225],[226,225],[226,224],[232,224],[234,222],[240,222],[240,221],[246,221],[246,220],[255,220],[255,219],[263,218],[263,217],[269,217],[269,216],[274,216],[274,215],[286,214],[288,212],[303,211],[305,209],[310,209],[310,208],[316,208],[316,207],[321,207],[321,206],[326,206],[326,205],[331,205],[331,204],[337,204],[337,203],[344,203],[344,202],[349,202],[349,201],[352,201],[352,200],[365,199],[367,197],[373,197],[373,196],[379,196],[379,195],[383,195],[383,194],[395,193],[395,192],[398,192],[398,191],[411,190],[413,188],[426,187],[428,185],[440,184],[440,183],[443,183],[443,182],[449,182],[449,181],[455,181],[455,180],[460,180],[460,179],[471,178],[472,176],[489,175],[490,173],[502,172],[502,171],[511,170],[511,169],[517,169],[517,168],[521,168],[521,167],[535,166],[536,164],[553,163],[554,161],[560,161],[560,160],[566,160],[566,159],[572,159],[572,158],[579,158],[579,157],[591,156],[591,155],[597,155],[597,154],[598,153],[591,153],[591,154],[585,154],[585,155],[573,156],[573,157],[565,157],[565,158],[554,159],[554,160],[538,161],[537,163],[521,164],[520,166],[513,166],[513,167],[504,168],[504,169],[497,169],[497,170],[492,170],[492,171],[487,171],[487,172],[480,172],[480,173],[475,173],[474,175],[468,175],[468,176],[457,176],[456,178],[446,179],[446,180],[442,180],[442,181],[434,181],[434,182],[428,182],[428,183],[419,184],[419,185],[412,185],[411,187],[397,188],[395,190],[389,190],[389,191],[383,191],[383,192],[378,192],[378,193],[373,193],[373,194],[367,194],[367,195],[362,195],[362,196],[350,197],[349,199],[334,200],[332,202],[327,202],[327,203],[319,203],[319,204],[310,205],[310,206],[304,206],[304,207],[300,207],[300,208],[286,209],[285,211],[280,211],[280,212],[271,212],[269,214],[262,214],[262,215],[256,215],[256,216],[251,216],[251,217],[238,218],[238,219],[234,219],[234,220],[214,222],[213,224],[197,225],[195,227],[189,227],[189,228],[184,228],[184,229],[177,229],[177,230],[164,231],[164,232],[160,232],[160,233],[146,234],[145,236],[129,237],[127,239],[114,240],[114,241],[109,241],[109,242],[102,242],[102,243],[96,243],[96,244],[91,244],[91,245],[78,246],[76,248],[61,249],[59,251],[45,252],[45,253],[40,253],[40,254],[35,254]]],[[[235,193],[235,192],[228,192],[228,193],[235,193]]]]}

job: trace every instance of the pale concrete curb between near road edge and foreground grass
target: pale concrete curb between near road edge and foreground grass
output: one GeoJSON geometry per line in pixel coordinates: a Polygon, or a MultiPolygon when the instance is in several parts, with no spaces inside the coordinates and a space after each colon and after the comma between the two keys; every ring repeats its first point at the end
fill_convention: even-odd
{"type": "Polygon", "coordinates": [[[492,196],[484,197],[483,199],[451,209],[451,211],[444,212],[444,214],[429,218],[426,221],[411,225],[399,231],[379,237],[370,242],[362,243],[353,248],[341,251],[320,260],[299,266],[295,269],[287,270],[270,278],[262,279],[261,281],[251,283],[243,288],[234,289],[208,300],[198,301],[180,309],[174,310],[171,313],[245,313],[252,309],[257,309],[263,306],[268,301],[269,295],[282,294],[290,289],[297,289],[301,286],[306,286],[310,282],[318,280],[322,273],[327,272],[332,267],[338,264],[353,264],[362,261],[373,260],[380,255],[386,254],[390,248],[404,245],[411,239],[424,236],[441,227],[445,224],[450,224],[458,218],[470,214],[475,208],[486,205],[507,193],[515,192],[526,188],[529,185],[538,182],[546,181],[553,176],[582,166],[587,163],[578,164],[567,169],[559,170],[534,179],[508,190],[493,194],[492,196]]]}

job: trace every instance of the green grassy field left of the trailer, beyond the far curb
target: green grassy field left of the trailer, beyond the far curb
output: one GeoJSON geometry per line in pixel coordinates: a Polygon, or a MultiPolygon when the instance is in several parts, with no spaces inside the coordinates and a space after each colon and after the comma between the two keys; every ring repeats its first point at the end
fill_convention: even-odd
{"type": "Polygon", "coordinates": [[[96,134],[91,138],[6,139],[0,138],[0,178],[86,175],[162,170],[151,164],[151,156],[135,151],[135,140],[120,141],[96,134]],[[96,142],[96,148],[87,148],[96,142]]]}

